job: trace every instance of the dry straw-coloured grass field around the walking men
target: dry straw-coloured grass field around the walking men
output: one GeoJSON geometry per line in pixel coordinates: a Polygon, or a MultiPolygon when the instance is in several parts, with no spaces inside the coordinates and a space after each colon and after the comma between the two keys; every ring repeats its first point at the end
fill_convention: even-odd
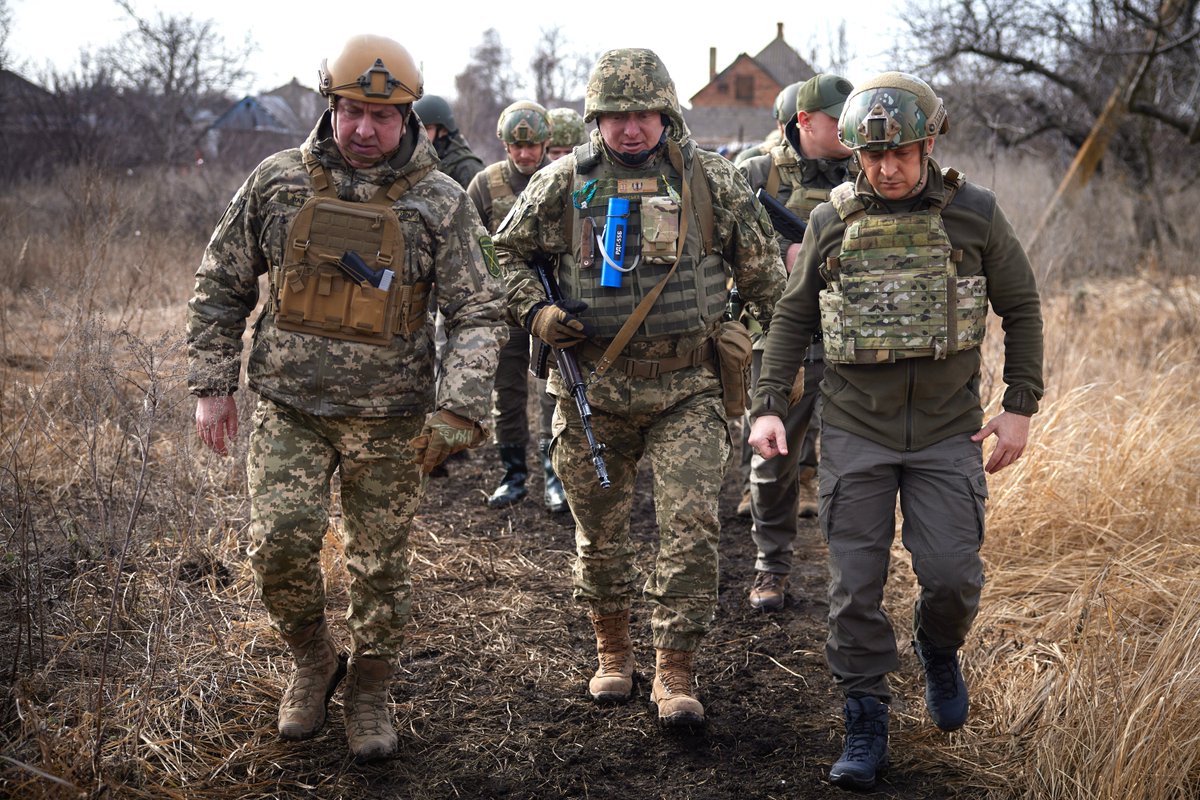
{"type": "MultiPolygon", "coordinates": [[[[1022,235],[1057,174],[946,162],[995,187],[1022,235]]],[[[276,739],[290,660],[239,551],[245,434],[233,458],[199,447],[181,336],[239,180],[79,172],[0,194],[0,795],[842,796],[823,782],[840,709],[811,524],[797,596],[751,614],[727,485],[721,607],[700,660],[710,721],[666,735],[646,703],[582,699],[592,643],[570,601],[569,522],[529,503],[486,510],[480,455],[420,511],[400,757],[349,762],[337,700],[311,742],[276,739]]],[[[1166,199],[1181,240],[1147,255],[1132,201],[1100,181],[1038,242],[1048,391],[1026,456],[990,480],[988,585],[964,651],[972,720],[950,735],[928,724],[906,654],[881,796],[1200,796],[1198,200],[1166,199]]],[[[649,501],[635,531],[648,551],[649,501]]],[[[336,530],[329,543],[344,608],[336,530]]],[[[893,564],[904,642],[913,579],[902,551],[893,564]]],[[[644,673],[646,631],[638,645],[644,673]]]]}

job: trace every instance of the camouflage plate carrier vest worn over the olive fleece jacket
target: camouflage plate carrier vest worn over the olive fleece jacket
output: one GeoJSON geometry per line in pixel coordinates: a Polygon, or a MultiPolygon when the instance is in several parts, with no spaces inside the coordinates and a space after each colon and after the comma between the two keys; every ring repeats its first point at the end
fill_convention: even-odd
{"type": "Polygon", "coordinates": [[[960,278],[962,251],[950,246],[942,209],[962,185],[943,170],[946,197],[934,207],[868,215],[853,184],[830,201],[846,223],[841,252],[821,266],[826,361],[882,363],[944,359],[983,343],[988,317],[984,276],[960,278]]]}

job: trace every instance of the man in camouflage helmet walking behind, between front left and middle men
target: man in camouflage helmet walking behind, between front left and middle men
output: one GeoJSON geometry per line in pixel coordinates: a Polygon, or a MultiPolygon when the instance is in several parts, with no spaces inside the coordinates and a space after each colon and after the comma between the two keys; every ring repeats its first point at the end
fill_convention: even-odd
{"type": "MultiPolygon", "coordinates": [[[[538,103],[517,101],[500,112],[496,137],[504,143],[508,156],[504,161],[488,164],[467,187],[467,194],[479,210],[484,225],[493,234],[533,174],[550,163],[546,156],[551,137],[550,116],[538,103]]],[[[517,326],[509,327],[509,341],[500,350],[500,363],[496,371],[496,449],[504,474],[487,498],[487,505],[504,509],[520,503],[528,493],[526,445],[529,444],[529,380],[535,383],[540,409],[538,444],[544,475],[542,501],[547,511],[562,513],[566,511],[566,494],[548,455],[554,399],[546,393],[544,381],[530,378],[529,332],[517,326]]]]}

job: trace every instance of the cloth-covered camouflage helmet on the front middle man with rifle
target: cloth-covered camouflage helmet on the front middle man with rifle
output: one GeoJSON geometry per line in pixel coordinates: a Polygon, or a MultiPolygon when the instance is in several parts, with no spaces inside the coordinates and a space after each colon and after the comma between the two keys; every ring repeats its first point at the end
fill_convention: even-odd
{"type": "Polygon", "coordinates": [[[608,50],[592,70],[583,97],[583,121],[623,112],[662,112],[671,121],[672,138],[686,134],[674,82],[653,50],[608,50]]]}

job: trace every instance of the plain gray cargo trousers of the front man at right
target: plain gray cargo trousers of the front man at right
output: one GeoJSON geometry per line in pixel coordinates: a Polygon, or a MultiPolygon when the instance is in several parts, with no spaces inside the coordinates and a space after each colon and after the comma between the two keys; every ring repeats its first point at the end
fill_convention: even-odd
{"type": "Polygon", "coordinates": [[[960,433],[904,452],[824,423],[820,487],[830,577],[826,660],[847,697],[889,702],[887,674],[900,664],[882,604],[896,494],[901,542],[919,585],[913,637],[935,648],[960,648],[978,613],[984,579],[983,449],[970,433],[960,433]]]}

